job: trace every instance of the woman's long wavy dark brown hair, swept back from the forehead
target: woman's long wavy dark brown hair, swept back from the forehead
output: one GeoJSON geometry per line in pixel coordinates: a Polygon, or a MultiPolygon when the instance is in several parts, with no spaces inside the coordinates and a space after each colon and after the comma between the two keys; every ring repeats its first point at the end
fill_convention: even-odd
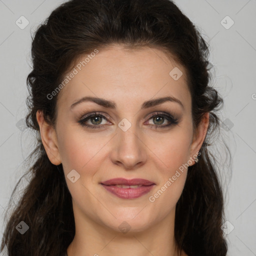
{"type": "MultiPolygon", "coordinates": [[[[207,150],[214,131],[219,130],[215,111],[222,99],[209,86],[212,65],[208,61],[208,45],[172,1],[70,0],[53,10],[32,40],[27,126],[39,134],[39,109],[55,125],[57,96],[49,99],[47,95],[81,55],[112,44],[130,49],[158,47],[172,54],[187,73],[194,127],[203,113],[210,112],[199,161],[188,167],[176,204],[174,235],[179,252],[183,249],[188,254],[226,255],[227,244],[221,230],[223,195],[214,159],[207,150]]],[[[30,180],[6,224],[1,251],[6,245],[9,256],[62,255],[75,233],[71,195],[62,165],[49,161],[40,135],[30,156],[35,159],[27,172],[30,180]],[[15,228],[21,220],[29,226],[22,235],[15,228]]]]}

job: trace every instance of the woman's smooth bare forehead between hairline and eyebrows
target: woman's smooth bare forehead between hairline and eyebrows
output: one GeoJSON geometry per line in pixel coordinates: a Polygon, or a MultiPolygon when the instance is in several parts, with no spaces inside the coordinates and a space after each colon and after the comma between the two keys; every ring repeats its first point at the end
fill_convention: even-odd
{"type": "Polygon", "coordinates": [[[158,48],[128,50],[114,45],[80,56],[65,75],[69,80],[57,102],[62,107],[83,96],[114,100],[117,107],[168,95],[184,102],[185,107],[190,104],[184,67],[158,48]],[[72,78],[71,73],[75,73],[72,78]]]}

